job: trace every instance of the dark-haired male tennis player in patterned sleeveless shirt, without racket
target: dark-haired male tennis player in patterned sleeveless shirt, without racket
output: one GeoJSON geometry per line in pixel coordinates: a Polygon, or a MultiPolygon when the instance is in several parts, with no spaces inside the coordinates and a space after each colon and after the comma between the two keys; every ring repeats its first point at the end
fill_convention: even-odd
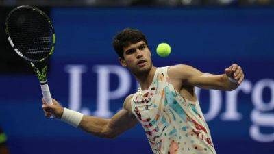
{"type": "Polygon", "coordinates": [[[202,73],[184,64],[157,68],[145,35],[136,29],[121,31],[113,46],[121,65],[140,84],[125,99],[123,110],[110,119],[97,118],[63,108],[53,99],[53,105],[43,101],[45,116],[61,118],[103,138],[115,138],[139,122],[153,153],[216,153],[194,87],[234,90],[244,79],[242,68],[232,64],[222,75],[202,73]]]}

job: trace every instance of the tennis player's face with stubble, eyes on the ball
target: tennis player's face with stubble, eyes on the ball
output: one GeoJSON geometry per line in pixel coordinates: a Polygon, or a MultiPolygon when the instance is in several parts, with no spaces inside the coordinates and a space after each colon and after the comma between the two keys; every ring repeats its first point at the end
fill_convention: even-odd
{"type": "Polygon", "coordinates": [[[129,44],[124,48],[124,59],[119,58],[121,64],[127,68],[134,75],[142,75],[149,73],[151,69],[151,52],[144,41],[135,44],[129,44]]]}

